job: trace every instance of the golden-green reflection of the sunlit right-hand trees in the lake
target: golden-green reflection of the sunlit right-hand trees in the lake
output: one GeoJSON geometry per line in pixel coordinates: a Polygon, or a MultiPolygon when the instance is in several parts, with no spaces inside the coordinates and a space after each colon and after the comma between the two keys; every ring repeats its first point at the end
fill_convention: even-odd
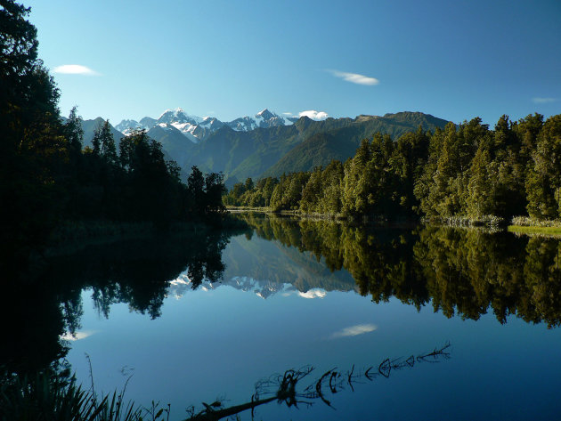
{"type": "Polygon", "coordinates": [[[394,296],[417,309],[430,304],[449,318],[478,320],[491,309],[500,323],[509,315],[549,328],[561,322],[558,239],[435,226],[365,229],[256,214],[240,218],[259,238],[283,245],[285,253],[311,253],[313,259],[300,259],[299,265],[321,261],[334,273],[345,269],[355,282],[345,287],[323,283],[323,277],[297,280],[293,285],[302,292],[356,287],[375,303],[394,296]]]}

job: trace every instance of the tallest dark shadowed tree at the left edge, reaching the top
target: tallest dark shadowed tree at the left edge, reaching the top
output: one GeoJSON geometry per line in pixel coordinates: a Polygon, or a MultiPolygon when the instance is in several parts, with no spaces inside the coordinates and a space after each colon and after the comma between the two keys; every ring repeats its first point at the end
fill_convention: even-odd
{"type": "Polygon", "coordinates": [[[9,0],[0,6],[2,267],[25,264],[60,215],[65,198],[58,182],[65,178],[68,142],[61,135],[59,91],[37,59],[37,28],[27,20],[29,9],[9,0]]]}

